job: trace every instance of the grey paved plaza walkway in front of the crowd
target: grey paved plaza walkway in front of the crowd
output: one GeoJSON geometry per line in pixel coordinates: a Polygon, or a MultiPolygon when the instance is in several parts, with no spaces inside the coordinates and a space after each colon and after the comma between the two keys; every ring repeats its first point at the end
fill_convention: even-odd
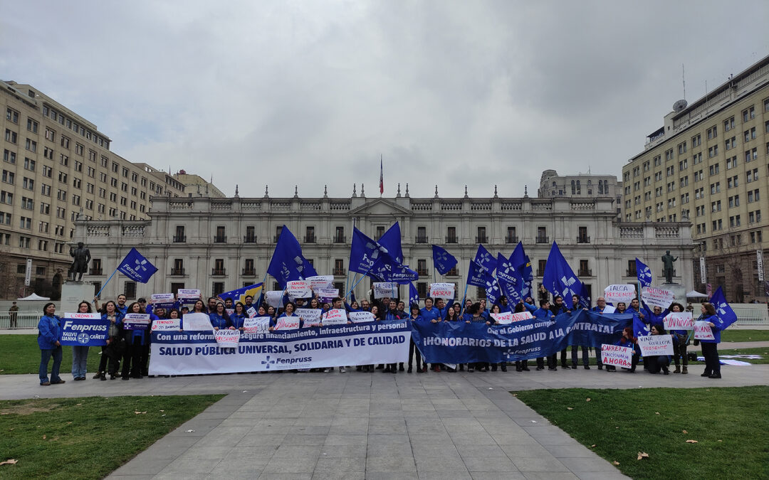
{"type": "MultiPolygon", "coordinates": [[[[67,382],[0,376],[3,399],[227,393],[110,478],[625,478],[510,390],[769,384],[646,372],[269,373],[67,382]]],[[[354,370],[354,369],[353,369],[354,370]]]]}

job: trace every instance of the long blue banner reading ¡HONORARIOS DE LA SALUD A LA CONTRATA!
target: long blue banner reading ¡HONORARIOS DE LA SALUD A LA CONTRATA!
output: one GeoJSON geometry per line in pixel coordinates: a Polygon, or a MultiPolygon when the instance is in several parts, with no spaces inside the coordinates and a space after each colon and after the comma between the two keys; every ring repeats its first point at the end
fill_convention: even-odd
{"type": "Polygon", "coordinates": [[[511,362],[558,353],[568,345],[617,343],[631,314],[574,313],[486,325],[484,322],[411,322],[411,338],[428,363],[511,362]]]}

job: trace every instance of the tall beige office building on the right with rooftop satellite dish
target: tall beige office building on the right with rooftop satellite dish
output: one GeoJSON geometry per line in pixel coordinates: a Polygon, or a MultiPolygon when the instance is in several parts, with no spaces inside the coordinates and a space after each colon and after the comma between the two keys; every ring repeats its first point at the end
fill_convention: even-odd
{"type": "Polygon", "coordinates": [[[622,168],[623,220],[691,221],[694,285],[723,286],[730,301],[767,300],[757,261],[767,253],[767,132],[769,57],[690,105],[677,101],[622,168]]]}

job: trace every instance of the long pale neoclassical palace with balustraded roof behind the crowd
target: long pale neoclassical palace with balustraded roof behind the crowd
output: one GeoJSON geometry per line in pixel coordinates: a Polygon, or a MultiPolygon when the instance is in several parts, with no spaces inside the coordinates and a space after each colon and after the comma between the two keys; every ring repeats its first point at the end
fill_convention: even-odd
{"type": "MultiPolygon", "coordinates": [[[[401,226],[404,263],[419,273],[422,298],[428,283],[453,282],[461,297],[470,260],[483,243],[492,253],[510,256],[524,243],[541,282],[553,241],[593,295],[614,283],[636,283],[635,258],[662,274],[661,257],[671,250],[679,262],[675,280],[691,286],[691,236],[688,223],[621,223],[614,199],[598,198],[154,198],[149,220],[77,220],[75,241],[83,241],[94,257],[102,284],[131,247],[148,258],[158,272],[147,284],[116,276],[105,298],[129,298],[199,288],[218,294],[261,282],[286,225],[304,255],[321,275],[333,275],[340,290],[348,281],[351,229],[378,239],[395,222],[401,226]],[[434,272],[431,244],[458,258],[458,267],[441,276],[434,272]]],[[[359,275],[358,275],[359,276],[359,275]]],[[[368,281],[355,290],[365,295],[368,281]]],[[[275,284],[268,278],[268,288],[275,284]]],[[[401,286],[401,294],[407,293],[401,286]]],[[[468,296],[484,291],[471,286],[468,296]]]]}

